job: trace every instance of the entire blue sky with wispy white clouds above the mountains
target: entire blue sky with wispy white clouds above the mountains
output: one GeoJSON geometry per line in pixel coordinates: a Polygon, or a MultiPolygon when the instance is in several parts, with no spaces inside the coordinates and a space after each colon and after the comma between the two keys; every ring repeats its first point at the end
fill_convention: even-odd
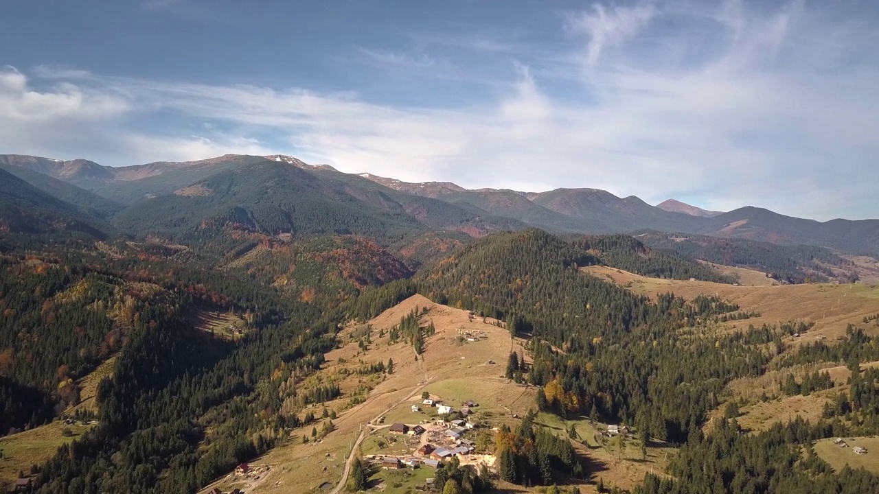
{"type": "Polygon", "coordinates": [[[879,217],[879,4],[4,0],[0,154],[879,217]]]}

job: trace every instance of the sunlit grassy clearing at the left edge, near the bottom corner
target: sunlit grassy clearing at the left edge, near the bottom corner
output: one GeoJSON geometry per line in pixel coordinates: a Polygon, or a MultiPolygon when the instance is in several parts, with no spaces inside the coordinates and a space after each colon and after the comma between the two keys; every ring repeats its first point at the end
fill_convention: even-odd
{"type": "Polygon", "coordinates": [[[19,470],[26,473],[30,471],[31,465],[41,465],[48,461],[58,447],[75,440],[93,426],[79,422],[65,425],[63,421],[56,420],[30,431],[0,438],[0,451],[3,452],[3,458],[0,458],[0,484],[15,482],[19,470]],[[69,429],[69,436],[63,434],[65,428],[69,429]]]}

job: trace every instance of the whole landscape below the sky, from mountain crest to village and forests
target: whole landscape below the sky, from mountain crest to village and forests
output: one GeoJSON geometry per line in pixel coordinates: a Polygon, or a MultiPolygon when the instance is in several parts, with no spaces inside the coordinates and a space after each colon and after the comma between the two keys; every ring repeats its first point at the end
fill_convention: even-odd
{"type": "Polygon", "coordinates": [[[275,155],[0,165],[5,485],[879,486],[826,444],[879,433],[870,222],[275,155]]]}

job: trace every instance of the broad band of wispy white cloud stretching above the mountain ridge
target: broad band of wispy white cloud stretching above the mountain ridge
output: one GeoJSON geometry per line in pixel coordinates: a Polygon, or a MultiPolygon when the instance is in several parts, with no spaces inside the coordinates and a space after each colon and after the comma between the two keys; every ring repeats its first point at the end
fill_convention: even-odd
{"type": "MultiPolygon", "coordinates": [[[[592,8],[580,19],[597,20],[570,53],[588,52],[600,32],[601,63],[576,83],[519,65],[512,81],[493,86],[495,98],[445,109],[379,105],[352,92],[76,73],[38,90],[6,69],[0,152],[75,152],[111,164],[281,152],[413,181],[585,186],[651,203],[680,196],[716,209],[875,216],[879,63],[862,45],[879,39],[869,23],[827,22],[798,3],[762,13],[737,2],[701,8],[592,8]],[[713,23],[701,35],[712,32],[717,49],[702,50],[694,31],[665,33],[692,63],[657,65],[625,46],[650,18],[686,25],[697,15],[713,23]],[[859,63],[841,65],[840,54],[859,63]],[[189,130],[126,125],[169,113],[189,130]]],[[[555,70],[562,55],[552,55],[555,70]]]]}

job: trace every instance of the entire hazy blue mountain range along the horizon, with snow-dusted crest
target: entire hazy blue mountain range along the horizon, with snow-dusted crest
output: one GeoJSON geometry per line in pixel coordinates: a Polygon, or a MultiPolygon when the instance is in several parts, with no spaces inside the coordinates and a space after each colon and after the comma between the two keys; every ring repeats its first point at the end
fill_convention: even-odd
{"type": "MultiPolygon", "coordinates": [[[[879,254],[879,220],[817,222],[760,207],[722,213],[677,200],[651,206],[636,196],[620,198],[593,188],[559,188],[541,193],[470,190],[451,182],[409,183],[371,173],[348,174],[329,165],[311,165],[281,155],[225,155],[192,162],[122,167],[84,159],[0,155],[0,167],[41,190],[51,187],[54,193],[49,194],[68,200],[91,216],[113,216],[114,223],[136,224],[142,230],[161,229],[165,233],[170,229],[192,229],[193,222],[227,214],[227,210],[235,207],[246,210],[245,216],[249,215],[250,220],[245,223],[251,222],[248,228],[259,229],[263,223],[256,220],[260,214],[254,216],[254,211],[280,207],[279,211],[289,214],[291,210],[307,210],[307,204],[326,207],[332,203],[334,207],[347,205],[352,212],[383,218],[382,222],[394,222],[404,225],[403,229],[419,232],[439,229],[478,237],[492,231],[527,227],[560,233],[654,230],[879,254]],[[77,189],[62,192],[60,183],[77,189]],[[173,219],[180,215],[186,219],[173,219]]],[[[287,233],[299,230],[306,217],[301,216],[296,221],[298,225],[287,224],[288,228],[272,223],[265,233],[277,233],[272,230],[277,228],[286,228],[287,233]]]]}

